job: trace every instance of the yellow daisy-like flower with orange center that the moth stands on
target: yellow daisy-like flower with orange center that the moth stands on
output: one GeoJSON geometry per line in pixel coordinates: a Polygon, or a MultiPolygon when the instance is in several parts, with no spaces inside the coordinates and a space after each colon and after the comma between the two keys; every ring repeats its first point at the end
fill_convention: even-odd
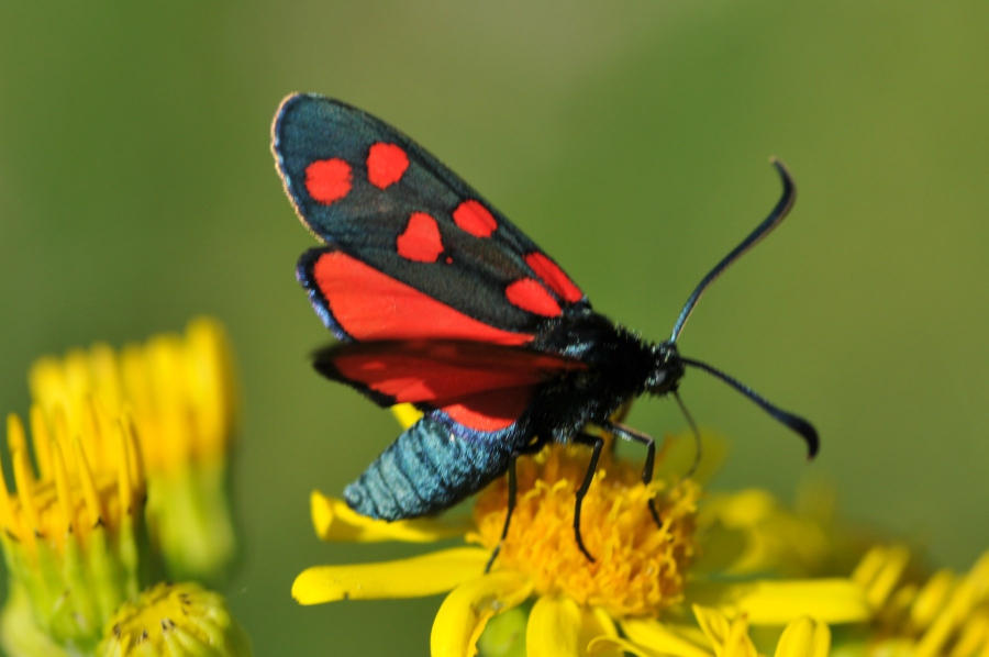
{"type": "MultiPolygon", "coordinates": [[[[668,456],[660,454],[660,461],[668,456]]],[[[490,572],[485,572],[485,565],[507,513],[503,481],[480,493],[474,526],[466,532],[457,522],[374,521],[340,500],[313,493],[313,522],[324,539],[422,543],[462,535],[480,547],[441,549],[381,564],[310,568],[296,579],[292,594],[302,604],[315,604],[449,591],[433,623],[434,657],[474,655],[488,622],[499,615],[492,630],[500,623],[500,636],[524,637],[527,654],[534,656],[586,655],[589,645],[619,655],[618,644],[602,643],[616,639],[619,632],[644,650],[658,650],[649,637],[666,636],[667,623],[682,624],[688,601],[765,625],[785,625],[805,615],[834,623],[868,617],[862,587],[848,579],[692,581],[691,561],[703,548],[694,541],[699,485],[674,483],[659,476],[646,487],[640,465],[610,453],[602,457],[584,502],[581,533],[596,556],[589,563],[573,530],[575,491],[587,458],[578,448],[551,445],[538,457],[520,460],[516,506],[490,572]],[[647,508],[653,497],[662,527],[647,508]]],[[[482,649],[497,643],[487,639],[481,641],[482,649]]]]}

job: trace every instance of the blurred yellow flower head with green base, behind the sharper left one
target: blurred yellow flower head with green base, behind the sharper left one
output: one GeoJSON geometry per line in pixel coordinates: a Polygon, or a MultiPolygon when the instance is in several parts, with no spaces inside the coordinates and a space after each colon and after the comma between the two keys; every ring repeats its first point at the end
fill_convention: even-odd
{"type": "Polygon", "coordinates": [[[147,472],[147,517],[175,579],[216,580],[235,555],[227,463],[236,394],[230,346],[213,320],[185,336],[158,335],[121,353],[107,345],[40,359],[30,383],[47,412],[65,409],[75,435],[96,400],[110,415],[129,412],[147,472]]]}

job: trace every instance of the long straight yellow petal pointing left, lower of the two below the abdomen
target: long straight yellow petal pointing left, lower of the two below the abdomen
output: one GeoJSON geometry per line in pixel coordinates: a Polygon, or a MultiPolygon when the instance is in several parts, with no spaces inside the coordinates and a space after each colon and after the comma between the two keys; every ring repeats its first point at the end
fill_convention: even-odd
{"type": "Polygon", "coordinates": [[[490,556],[478,547],[456,547],[397,561],[315,566],[296,578],[292,598],[300,604],[319,604],[434,595],[476,578],[490,556]]]}

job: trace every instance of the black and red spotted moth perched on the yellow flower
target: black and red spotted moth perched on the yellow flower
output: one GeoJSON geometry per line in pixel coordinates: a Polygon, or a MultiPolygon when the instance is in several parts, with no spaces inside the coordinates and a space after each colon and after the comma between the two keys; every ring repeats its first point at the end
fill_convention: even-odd
{"type": "MultiPolygon", "coordinates": [[[[381,407],[412,403],[424,416],[344,490],[358,513],[399,520],[436,513],[509,472],[547,442],[591,447],[574,527],[603,441],[599,427],[647,448],[652,437],[611,419],[648,392],[676,394],[686,367],[744,392],[796,431],[813,456],[818,436],[723,372],[680,356],[677,337],[701,293],[784,219],[796,196],[701,281],[669,339],[644,342],[591,309],[536,246],[456,174],[387,123],[343,102],[295,94],[278,110],[273,151],[285,189],[324,243],[302,255],[298,278],[341,341],[315,356],[325,377],[381,407]]],[[[679,398],[677,398],[679,399],[679,398]]],[[[655,505],[651,511],[660,523],[655,505]]]]}

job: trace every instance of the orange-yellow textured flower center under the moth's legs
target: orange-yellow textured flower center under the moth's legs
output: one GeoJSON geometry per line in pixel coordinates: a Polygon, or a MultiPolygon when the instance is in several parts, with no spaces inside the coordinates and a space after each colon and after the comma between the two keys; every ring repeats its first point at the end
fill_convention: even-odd
{"type": "MultiPolygon", "coordinates": [[[[494,568],[525,572],[541,594],[565,593],[616,617],[655,615],[679,602],[694,556],[699,487],[691,480],[645,486],[640,465],[602,454],[580,516],[591,563],[574,536],[587,465],[586,449],[555,445],[518,461],[516,504],[494,568]],[[648,509],[654,495],[662,527],[648,509]]],[[[504,479],[488,487],[475,506],[478,533],[470,539],[490,549],[504,524],[507,488],[504,479]]]]}

